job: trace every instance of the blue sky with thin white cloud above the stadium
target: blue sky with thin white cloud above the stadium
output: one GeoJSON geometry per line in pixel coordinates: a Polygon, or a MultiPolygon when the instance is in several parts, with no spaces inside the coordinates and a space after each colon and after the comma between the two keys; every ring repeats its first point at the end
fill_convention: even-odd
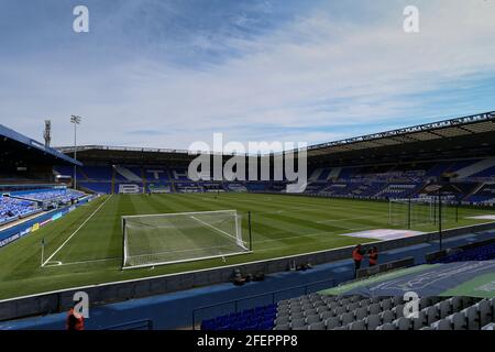
{"type": "Polygon", "coordinates": [[[42,140],[50,119],[72,145],[78,114],[78,144],[188,148],[493,111],[494,19],[495,0],[0,0],[0,124],[42,140]]]}

